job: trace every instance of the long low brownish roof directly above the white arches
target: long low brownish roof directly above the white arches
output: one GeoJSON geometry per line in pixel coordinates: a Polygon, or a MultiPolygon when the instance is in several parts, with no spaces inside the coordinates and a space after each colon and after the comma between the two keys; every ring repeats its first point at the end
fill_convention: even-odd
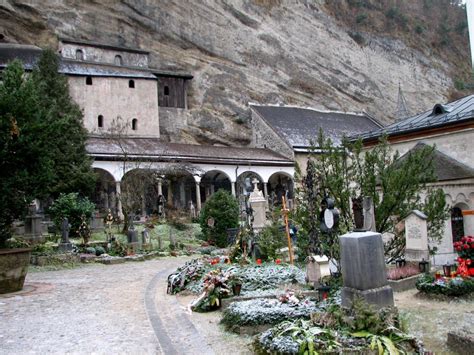
{"type": "Polygon", "coordinates": [[[87,151],[98,160],[129,159],[185,161],[219,164],[293,166],[294,163],[269,149],[216,147],[162,142],[158,138],[127,137],[120,140],[90,137],[87,151]]]}

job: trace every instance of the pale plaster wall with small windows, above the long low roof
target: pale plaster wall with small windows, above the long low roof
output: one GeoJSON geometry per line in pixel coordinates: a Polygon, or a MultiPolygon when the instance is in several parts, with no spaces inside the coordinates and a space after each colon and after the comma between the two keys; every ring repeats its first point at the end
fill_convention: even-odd
{"type": "Polygon", "coordinates": [[[134,79],[135,88],[128,87],[129,78],[92,77],[86,85],[84,76],[69,76],[71,97],[83,109],[84,126],[90,133],[109,133],[113,120],[121,117],[127,123],[126,134],[159,137],[158,94],[156,80],[134,79]],[[98,127],[102,115],[103,127],[98,127]],[[132,130],[132,119],[137,129],[132,130]]]}

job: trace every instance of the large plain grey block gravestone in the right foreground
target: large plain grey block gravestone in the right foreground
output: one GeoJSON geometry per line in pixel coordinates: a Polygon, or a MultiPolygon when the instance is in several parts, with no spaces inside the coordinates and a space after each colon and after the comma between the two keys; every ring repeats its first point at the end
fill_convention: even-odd
{"type": "Polygon", "coordinates": [[[382,236],[375,232],[351,232],[339,237],[343,278],[342,306],[355,297],[376,308],[393,306],[388,285],[382,236]]]}

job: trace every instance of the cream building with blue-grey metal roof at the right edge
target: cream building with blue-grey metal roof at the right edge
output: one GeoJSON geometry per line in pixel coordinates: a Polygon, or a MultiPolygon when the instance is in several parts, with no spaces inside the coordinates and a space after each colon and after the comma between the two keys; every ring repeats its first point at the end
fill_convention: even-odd
{"type": "Polygon", "coordinates": [[[436,104],[431,110],[359,137],[370,149],[383,134],[400,154],[419,149],[423,144],[435,146],[433,161],[437,181],[431,185],[444,190],[446,202],[451,207],[451,218],[446,222],[434,261],[436,264],[453,261],[456,256],[453,242],[463,235],[474,234],[474,216],[463,214],[463,211],[474,209],[474,156],[471,147],[474,141],[474,95],[436,104]]]}

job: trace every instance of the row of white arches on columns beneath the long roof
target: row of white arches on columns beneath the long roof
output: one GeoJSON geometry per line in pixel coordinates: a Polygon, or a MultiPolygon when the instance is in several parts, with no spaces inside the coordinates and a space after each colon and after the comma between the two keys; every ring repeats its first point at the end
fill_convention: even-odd
{"type": "Polygon", "coordinates": [[[158,210],[161,195],[168,208],[191,209],[196,213],[214,192],[225,189],[241,200],[252,181],[271,203],[281,196],[293,198],[294,168],[289,166],[242,166],[181,163],[125,163],[94,161],[98,174],[94,202],[99,210],[111,209],[120,218],[122,204],[141,215],[158,210]],[[118,198],[121,196],[121,198],[118,198]]]}

